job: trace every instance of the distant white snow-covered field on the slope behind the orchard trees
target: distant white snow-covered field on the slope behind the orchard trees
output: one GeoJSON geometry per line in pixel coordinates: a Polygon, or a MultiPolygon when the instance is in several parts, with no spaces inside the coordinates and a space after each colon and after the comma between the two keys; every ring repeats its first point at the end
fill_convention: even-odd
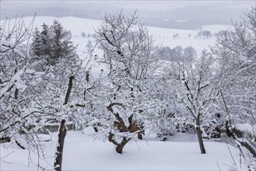
{"type": "MultiPolygon", "coordinates": [[[[54,18],[50,16],[37,16],[34,20],[33,26],[37,26],[40,29],[40,26],[43,23],[46,23],[48,26],[51,26],[54,19],[58,19],[61,25],[64,26],[66,30],[71,30],[72,32],[72,41],[74,44],[78,44],[78,50],[83,51],[86,47],[88,38],[82,37],[82,31],[87,33],[95,33],[95,30],[101,24],[100,20],[93,19],[82,19],[77,17],[62,17],[54,18]]],[[[12,19],[13,21],[14,19],[12,19]]],[[[24,17],[23,20],[25,23],[29,24],[33,17],[24,17]]],[[[4,20],[1,21],[3,23],[4,20]]],[[[227,25],[207,25],[203,26],[202,30],[209,30],[211,33],[218,33],[219,30],[228,30],[231,26],[227,25]]],[[[199,30],[175,30],[175,29],[164,29],[158,27],[149,26],[149,33],[153,35],[155,43],[157,45],[169,46],[174,48],[176,46],[181,47],[194,47],[198,54],[200,51],[207,49],[209,46],[213,46],[216,42],[215,37],[210,37],[209,39],[195,38],[199,30]],[[178,33],[180,36],[178,38],[173,38],[173,35],[178,33]],[[191,34],[191,38],[188,37],[188,34],[191,34]]]]}

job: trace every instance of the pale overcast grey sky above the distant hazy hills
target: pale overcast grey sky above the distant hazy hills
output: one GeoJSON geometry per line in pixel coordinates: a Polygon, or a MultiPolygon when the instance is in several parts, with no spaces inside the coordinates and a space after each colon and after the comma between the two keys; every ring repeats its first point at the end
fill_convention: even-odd
{"type": "Polygon", "coordinates": [[[150,9],[150,10],[164,10],[164,9],[174,9],[174,8],[180,8],[184,6],[209,6],[212,4],[219,4],[224,5],[229,8],[236,8],[236,9],[247,9],[248,7],[255,5],[256,0],[236,0],[236,1],[227,1],[227,0],[195,0],[195,1],[174,1],[174,0],[166,0],[166,1],[131,1],[131,0],[116,0],[116,1],[107,1],[107,0],[101,0],[101,1],[86,1],[86,0],[69,0],[69,1],[51,1],[51,0],[29,0],[29,1],[23,1],[23,0],[0,0],[2,8],[9,7],[9,6],[16,6],[21,5],[22,8],[33,8],[33,6],[41,6],[41,5],[86,5],[86,4],[109,4],[109,5],[115,5],[118,7],[123,8],[129,8],[129,9],[150,9]]]}

